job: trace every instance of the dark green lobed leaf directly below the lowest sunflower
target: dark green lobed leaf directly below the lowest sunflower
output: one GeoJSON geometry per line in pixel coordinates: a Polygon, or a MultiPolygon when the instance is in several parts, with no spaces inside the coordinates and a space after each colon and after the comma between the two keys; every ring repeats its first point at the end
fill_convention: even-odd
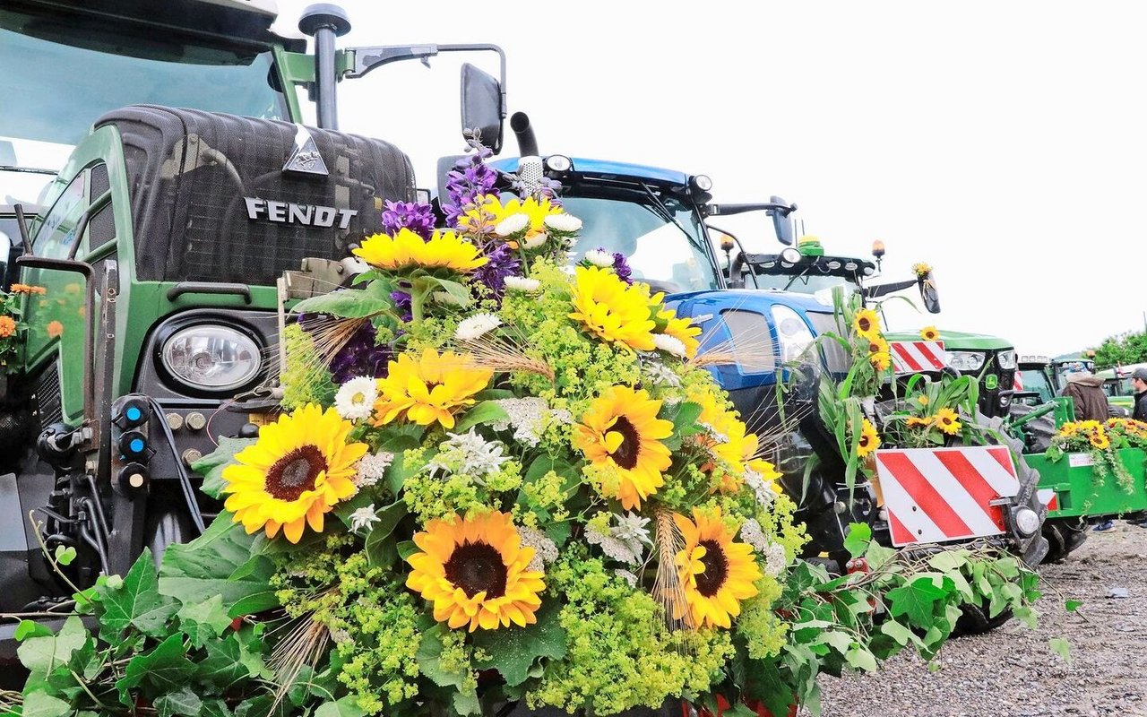
{"type": "Polygon", "coordinates": [[[474,646],[490,657],[475,661],[481,670],[496,669],[510,687],[530,677],[530,668],[541,657],[561,660],[565,656],[565,631],[559,623],[559,605],[549,601],[536,614],[538,622],[525,628],[483,630],[475,634],[474,646]]]}

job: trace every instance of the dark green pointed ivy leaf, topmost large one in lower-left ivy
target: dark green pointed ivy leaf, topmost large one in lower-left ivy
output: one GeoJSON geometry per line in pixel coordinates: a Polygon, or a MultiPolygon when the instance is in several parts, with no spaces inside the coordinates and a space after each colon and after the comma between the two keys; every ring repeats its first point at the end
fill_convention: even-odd
{"type": "Polygon", "coordinates": [[[96,594],[104,610],[100,618],[100,638],[112,645],[128,625],[154,638],[167,634],[167,619],[178,609],[170,597],[159,594],[151,551],[146,547],[124,576],[120,587],[104,585],[96,594]]]}

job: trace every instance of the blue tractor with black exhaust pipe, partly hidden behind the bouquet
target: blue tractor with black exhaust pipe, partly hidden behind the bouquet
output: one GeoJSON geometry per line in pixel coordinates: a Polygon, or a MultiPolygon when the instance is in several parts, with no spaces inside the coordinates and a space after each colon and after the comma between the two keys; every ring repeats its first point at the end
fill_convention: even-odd
{"type": "MultiPolygon", "coordinates": [[[[702,351],[719,346],[729,354],[729,360],[710,371],[771,451],[766,458],[782,471],[781,483],[799,506],[797,517],[807,525],[807,555],[828,554],[843,567],[850,523],[869,524],[874,535],[889,543],[874,496],[865,490],[850,496],[844,485],[844,461],[817,412],[822,373],[842,376],[851,361],[833,341],[809,350],[820,334],[838,330],[832,299],[824,294],[731,288],[736,282],[731,285],[727,270],[723,271],[717,247],[725,252],[740,249],[728,262],[729,268],[743,267],[746,252],[735,239],[726,236],[718,244],[717,231],[707,224],[710,217],[764,211],[772,218],[777,239],[791,244],[790,215],[796,205],[779,196],[766,203],[718,204],[709,194],[711,181],[702,174],[543,156],[528,118],[515,115],[510,126],[518,135],[522,157],[491,164],[521,178],[544,176],[561,184],[563,205],[584,223],[574,259],[598,248],[624,254],[634,279],[664,291],[679,315],[693,317],[702,327],[702,351]],[[819,360],[793,368],[793,361],[807,356],[819,360]]],[[[1037,478],[1030,476],[1032,485],[1037,478]]],[[[1035,501],[1033,491],[1022,494],[1028,492],[1035,501]]],[[[1024,533],[1013,525],[1004,539],[1008,550],[1031,564],[1046,552],[1038,529],[1024,533]]]]}

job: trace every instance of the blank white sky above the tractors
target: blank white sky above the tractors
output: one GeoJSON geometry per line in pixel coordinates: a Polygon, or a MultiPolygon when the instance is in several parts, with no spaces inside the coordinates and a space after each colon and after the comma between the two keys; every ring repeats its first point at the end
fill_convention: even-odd
{"type": "MultiPolygon", "coordinates": [[[[280,0],[284,30],[306,5],[280,0]]],[[[1138,5],[342,5],[343,46],[500,45],[509,111],[530,115],[543,154],[709,174],[717,202],[780,194],[830,252],[883,240],[888,279],[928,262],[943,313],[894,302],[894,328],[1052,354],[1144,328],[1138,5]]],[[[430,186],[435,158],[462,149],[460,61],[343,83],[341,128],[393,142],[430,186]]],[[[508,127],[506,145],[517,154],[508,127]]],[[[763,213],[716,223],[750,250],[779,248],[763,213]]]]}

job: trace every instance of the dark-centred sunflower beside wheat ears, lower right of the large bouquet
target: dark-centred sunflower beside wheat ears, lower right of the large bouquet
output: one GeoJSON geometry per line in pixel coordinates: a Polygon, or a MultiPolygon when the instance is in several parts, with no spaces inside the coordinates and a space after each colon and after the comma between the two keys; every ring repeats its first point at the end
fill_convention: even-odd
{"type": "Polygon", "coordinates": [[[673,522],[685,539],[685,548],[673,562],[685,586],[693,625],[731,628],[732,618],[741,614],[741,601],[757,594],[755,583],[760,579],[760,568],[752,558],[752,547],[733,541],[719,508],[709,514],[694,511],[692,521],[674,514],[673,522]]]}

